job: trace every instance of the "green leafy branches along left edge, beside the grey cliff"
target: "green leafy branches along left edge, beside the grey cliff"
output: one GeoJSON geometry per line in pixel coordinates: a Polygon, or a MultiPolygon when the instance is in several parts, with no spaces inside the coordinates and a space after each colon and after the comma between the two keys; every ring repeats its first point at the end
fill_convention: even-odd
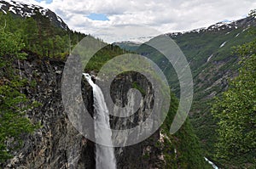
{"type": "Polygon", "coordinates": [[[38,127],[26,117],[26,111],[37,103],[30,103],[20,92],[28,84],[16,76],[13,67],[14,62],[26,59],[26,54],[20,52],[24,43],[19,33],[10,33],[5,28],[6,25],[0,27],[0,162],[11,158],[12,151],[20,147],[22,134],[38,127]]]}

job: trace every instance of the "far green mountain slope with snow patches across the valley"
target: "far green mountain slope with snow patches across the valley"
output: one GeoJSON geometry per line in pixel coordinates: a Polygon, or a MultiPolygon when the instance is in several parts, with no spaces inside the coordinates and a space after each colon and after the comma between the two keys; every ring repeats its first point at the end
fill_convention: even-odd
{"type": "MultiPolygon", "coordinates": [[[[217,121],[212,118],[210,113],[210,103],[214,96],[218,96],[219,93],[226,90],[228,80],[238,74],[239,57],[233,47],[244,42],[251,42],[254,37],[250,36],[249,31],[255,29],[256,19],[248,16],[229,23],[219,22],[207,28],[166,34],[177,43],[189,62],[194,80],[194,102],[189,114],[190,121],[206,150],[205,155],[210,159],[213,159],[213,144],[217,139],[215,134],[217,121]]],[[[125,43],[121,43],[119,46],[126,48],[125,43]]],[[[178,97],[177,75],[172,65],[167,64],[168,60],[146,44],[142,44],[134,52],[145,55],[160,66],[172,91],[178,97]]]]}

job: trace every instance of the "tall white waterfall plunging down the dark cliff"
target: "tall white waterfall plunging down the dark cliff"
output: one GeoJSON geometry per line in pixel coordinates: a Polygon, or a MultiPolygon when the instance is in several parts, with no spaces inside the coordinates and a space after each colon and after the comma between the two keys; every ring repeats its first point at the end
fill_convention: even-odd
{"type": "MultiPolygon", "coordinates": [[[[93,89],[95,115],[95,136],[96,140],[104,140],[104,143],[112,144],[112,132],[103,132],[101,127],[110,128],[108,107],[105,103],[104,96],[100,87],[92,82],[89,74],[83,73],[87,82],[93,89]]],[[[113,152],[113,147],[107,147],[96,144],[96,169],[115,169],[116,161],[113,152]]]]}

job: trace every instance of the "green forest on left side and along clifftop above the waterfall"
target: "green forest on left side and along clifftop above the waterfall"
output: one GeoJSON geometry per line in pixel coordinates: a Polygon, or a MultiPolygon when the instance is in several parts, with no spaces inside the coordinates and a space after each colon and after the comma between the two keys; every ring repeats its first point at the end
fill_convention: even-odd
{"type": "MultiPolygon", "coordinates": [[[[0,12],[0,22],[0,162],[3,162],[12,158],[11,153],[20,148],[22,134],[41,127],[26,117],[28,110],[41,104],[27,99],[21,92],[24,87],[35,87],[37,82],[22,78],[15,65],[29,54],[41,59],[65,60],[72,48],[90,35],[56,27],[39,13],[24,19],[0,12]]],[[[87,69],[98,70],[104,60],[117,54],[123,54],[123,50],[109,45],[94,57],[87,69]],[[101,59],[102,55],[106,58],[101,59]]]]}

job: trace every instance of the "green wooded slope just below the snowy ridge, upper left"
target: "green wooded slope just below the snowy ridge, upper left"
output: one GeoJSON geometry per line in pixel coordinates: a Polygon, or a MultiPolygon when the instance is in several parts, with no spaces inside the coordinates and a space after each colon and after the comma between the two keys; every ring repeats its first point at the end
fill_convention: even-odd
{"type": "Polygon", "coordinates": [[[85,37],[77,31],[56,27],[49,18],[40,13],[30,18],[20,18],[3,12],[0,14],[0,24],[5,27],[5,31],[20,35],[25,44],[23,49],[44,57],[65,59],[70,48],[85,37]]]}

